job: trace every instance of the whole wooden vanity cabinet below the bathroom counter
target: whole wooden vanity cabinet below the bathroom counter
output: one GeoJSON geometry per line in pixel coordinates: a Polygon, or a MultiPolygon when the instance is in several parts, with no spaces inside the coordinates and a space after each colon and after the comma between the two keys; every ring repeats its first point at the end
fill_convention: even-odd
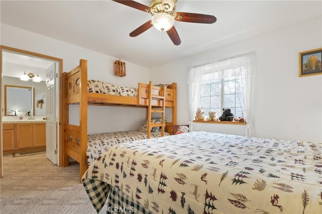
{"type": "Polygon", "coordinates": [[[46,123],[4,123],[4,151],[35,150],[46,146],[46,123]]]}

